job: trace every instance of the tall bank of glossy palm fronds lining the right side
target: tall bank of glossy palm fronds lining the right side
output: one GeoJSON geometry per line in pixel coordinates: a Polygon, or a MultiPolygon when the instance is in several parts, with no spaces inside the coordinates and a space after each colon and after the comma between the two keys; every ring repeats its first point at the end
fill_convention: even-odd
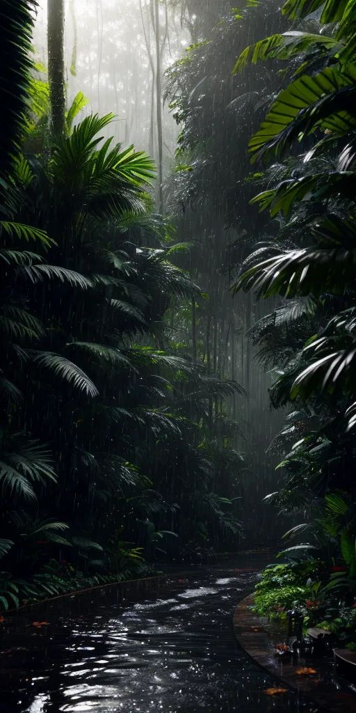
{"type": "MultiPolygon", "coordinates": [[[[278,373],[273,406],[293,408],[274,443],[284,451],[286,481],[269,499],[303,518],[285,537],[306,535],[309,542],[286,555],[303,566],[310,548],[320,550],[329,577],[313,591],[319,619],[331,621],[340,597],[346,608],[352,600],[356,576],[355,5],[288,0],[282,14],[293,30],[260,39],[235,66],[244,72],[250,62],[277,59],[287,76],[293,68],[293,77],[249,142],[253,163],[268,162],[258,177],[264,190],[253,203],[269,211],[271,237],[264,235],[248,257],[233,291],[285,300],[253,329],[261,359],[278,373]],[[345,570],[336,579],[330,579],[332,565],[345,570]]],[[[270,570],[257,602],[271,613],[273,591],[263,589],[268,578],[270,570]]],[[[305,588],[302,580],[292,578],[275,603],[282,603],[283,591],[283,604],[303,603],[293,589],[305,588]]],[[[305,596],[310,599],[308,588],[305,596]]]]}

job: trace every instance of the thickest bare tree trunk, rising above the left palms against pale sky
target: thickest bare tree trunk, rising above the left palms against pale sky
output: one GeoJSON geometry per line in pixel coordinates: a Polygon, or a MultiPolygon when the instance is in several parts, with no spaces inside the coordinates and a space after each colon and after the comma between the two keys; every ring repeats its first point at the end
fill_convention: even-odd
{"type": "Polygon", "coordinates": [[[48,82],[51,102],[51,131],[54,138],[66,128],[64,81],[64,0],[47,0],[48,82]]]}

